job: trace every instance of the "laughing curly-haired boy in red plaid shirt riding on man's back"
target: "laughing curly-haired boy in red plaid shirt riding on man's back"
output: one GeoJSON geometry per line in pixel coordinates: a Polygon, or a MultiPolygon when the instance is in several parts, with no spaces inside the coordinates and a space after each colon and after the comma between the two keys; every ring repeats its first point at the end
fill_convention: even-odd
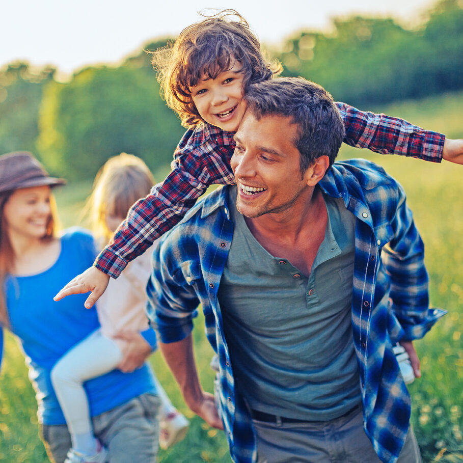
{"type": "MultiPolygon", "coordinates": [[[[211,184],[234,184],[230,158],[234,132],[246,111],[247,85],[281,72],[268,62],[248,23],[226,10],[188,26],[172,47],[154,53],[167,104],[187,127],[174,153],[172,172],[130,209],[94,266],[70,281],[55,300],[91,291],[90,308],[128,262],[178,223],[211,184]]],[[[344,120],[344,142],[382,154],[399,154],[463,164],[463,141],[445,139],[401,119],[363,113],[337,103],[344,120]]]]}

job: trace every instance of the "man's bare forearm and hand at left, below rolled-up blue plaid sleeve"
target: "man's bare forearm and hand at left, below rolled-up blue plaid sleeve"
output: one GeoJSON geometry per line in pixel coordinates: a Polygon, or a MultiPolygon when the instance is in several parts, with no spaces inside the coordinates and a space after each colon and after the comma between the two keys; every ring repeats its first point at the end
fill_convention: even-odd
{"type": "Polygon", "coordinates": [[[170,344],[159,343],[159,348],[171,369],[188,407],[209,426],[224,429],[217,413],[214,396],[204,392],[198,378],[193,341],[190,334],[181,341],[170,344]]]}

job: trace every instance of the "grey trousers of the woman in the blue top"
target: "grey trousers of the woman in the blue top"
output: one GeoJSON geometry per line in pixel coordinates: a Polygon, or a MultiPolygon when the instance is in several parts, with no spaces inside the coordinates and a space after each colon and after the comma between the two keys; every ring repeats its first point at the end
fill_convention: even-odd
{"type": "MultiPolygon", "coordinates": [[[[159,398],[142,394],[92,418],[95,437],[108,450],[111,463],[153,463],[158,451],[159,398]]],[[[63,463],[71,448],[66,425],[42,425],[42,440],[48,456],[63,463]]]]}

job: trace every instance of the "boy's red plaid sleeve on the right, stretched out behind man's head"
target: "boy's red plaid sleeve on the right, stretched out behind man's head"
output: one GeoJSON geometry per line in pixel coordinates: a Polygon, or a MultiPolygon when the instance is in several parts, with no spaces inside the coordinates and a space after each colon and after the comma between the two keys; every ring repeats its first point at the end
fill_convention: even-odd
{"type": "Polygon", "coordinates": [[[346,129],[344,143],[381,154],[442,161],[445,141],[442,133],[423,130],[403,119],[385,114],[362,112],[345,103],[337,102],[336,105],[346,129]]]}

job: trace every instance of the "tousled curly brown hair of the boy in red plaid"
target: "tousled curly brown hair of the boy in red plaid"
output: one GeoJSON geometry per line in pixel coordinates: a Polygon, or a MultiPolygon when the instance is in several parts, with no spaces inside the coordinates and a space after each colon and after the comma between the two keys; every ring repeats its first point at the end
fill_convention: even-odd
{"type": "Polygon", "coordinates": [[[206,16],[183,29],[178,39],[152,52],[161,95],[180,117],[182,125],[195,127],[203,119],[190,95],[190,89],[205,76],[214,79],[228,71],[237,60],[249,83],[267,80],[282,71],[278,61],[267,60],[249,24],[235,10],[206,16]]]}

